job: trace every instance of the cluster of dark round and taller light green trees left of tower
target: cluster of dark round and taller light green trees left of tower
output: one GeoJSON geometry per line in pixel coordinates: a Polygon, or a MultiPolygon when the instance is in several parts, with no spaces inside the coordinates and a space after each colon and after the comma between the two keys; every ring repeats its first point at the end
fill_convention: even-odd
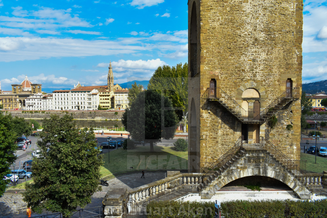
{"type": "Polygon", "coordinates": [[[187,92],[187,63],[158,67],[146,91],[142,91],[142,85],[132,85],[129,109],[125,110],[122,123],[134,140],[150,143],[153,151],[154,143],[174,137],[180,121],[186,126],[187,92]]]}

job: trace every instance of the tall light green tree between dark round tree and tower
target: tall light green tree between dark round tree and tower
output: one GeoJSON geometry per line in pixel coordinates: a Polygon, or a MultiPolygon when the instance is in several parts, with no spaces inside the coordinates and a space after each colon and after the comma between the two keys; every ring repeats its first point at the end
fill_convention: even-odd
{"type": "Polygon", "coordinates": [[[181,109],[182,114],[179,114],[181,120],[188,110],[188,64],[158,67],[150,78],[147,88],[160,91],[169,97],[173,107],[181,109]]]}

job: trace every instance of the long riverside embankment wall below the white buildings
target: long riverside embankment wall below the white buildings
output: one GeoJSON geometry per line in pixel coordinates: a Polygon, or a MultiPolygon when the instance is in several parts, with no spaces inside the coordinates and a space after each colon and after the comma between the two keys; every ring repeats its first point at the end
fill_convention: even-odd
{"type": "Polygon", "coordinates": [[[72,115],[74,119],[81,120],[121,120],[125,111],[6,111],[11,113],[13,117],[22,117],[25,119],[44,119],[48,118],[51,114],[63,116],[65,114],[72,115]]]}

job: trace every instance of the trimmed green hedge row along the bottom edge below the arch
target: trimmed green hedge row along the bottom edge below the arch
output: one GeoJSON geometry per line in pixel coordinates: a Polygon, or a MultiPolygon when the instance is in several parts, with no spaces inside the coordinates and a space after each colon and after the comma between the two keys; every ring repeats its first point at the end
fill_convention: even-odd
{"type": "MultiPolygon", "coordinates": [[[[215,217],[213,202],[150,202],[146,206],[148,218],[215,217]]],[[[221,217],[225,218],[318,218],[327,217],[327,200],[236,200],[221,203],[221,217]]]]}

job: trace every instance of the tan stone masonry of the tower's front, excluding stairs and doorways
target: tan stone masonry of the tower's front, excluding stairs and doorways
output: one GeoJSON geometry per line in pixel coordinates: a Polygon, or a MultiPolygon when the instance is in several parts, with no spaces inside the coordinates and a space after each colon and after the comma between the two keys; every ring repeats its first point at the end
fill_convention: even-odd
{"type": "MultiPolygon", "coordinates": [[[[204,94],[211,79],[232,99],[239,98],[244,84],[260,84],[262,110],[285,92],[288,78],[301,92],[301,0],[189,0],[189,12],[193,2],[198,7],[197,94],[204,94]]],[[[199,137],[206,139],[205,146],[199,145],[200,161],[212,161],[241,136],[241,123],[219,104],[206,103],[198,109],[199,137]]],[[[278,125],[270,129],[262,124],[260,136],[291,159],[300,159],[300,101],[287,105],[276,117],[278,125]],[[293,125],[290,132],[285,130],[287,124],[293,125]]]]}

